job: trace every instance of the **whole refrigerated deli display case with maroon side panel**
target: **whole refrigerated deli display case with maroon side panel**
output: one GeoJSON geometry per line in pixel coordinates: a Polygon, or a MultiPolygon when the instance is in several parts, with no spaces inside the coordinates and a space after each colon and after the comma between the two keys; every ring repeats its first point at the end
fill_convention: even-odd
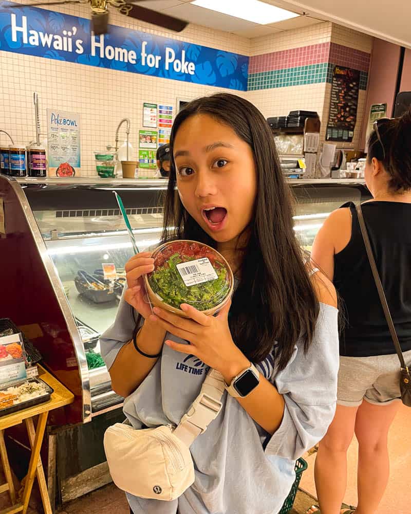
{"type": "MultiPolygon", "coordinates": [[[[350,179],[290,185],[295,233],[308,251],[330,212],[370,198],[363,183],[350,179]]],[[[99,335],[115,319],[124,266],[134,253],[113,192],[121,196],[142,250],[160,241],[166,188],[161,179],[0,176],[0,317],[25,332],[43,364],[74,393],[73,406],[52,419],[53,426],[86,427],[107,413],[121,415],[123,399],[111,390],[99,345],[99,335]]],[[[102,433],[89,433],[102,440],[102,433]]]]}

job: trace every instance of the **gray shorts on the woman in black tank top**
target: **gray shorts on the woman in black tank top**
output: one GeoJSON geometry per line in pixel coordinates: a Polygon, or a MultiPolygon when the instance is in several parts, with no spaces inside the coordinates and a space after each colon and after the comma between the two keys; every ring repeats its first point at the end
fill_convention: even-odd
{"type": "MultiPolygon", "coordinates": [[[[405,364],[411,366],[411,350],[403,352],[403,356],[405,364]]],[[[363,399],[376,405],[389,405],[400,397],[400,361],[397,354],[340,356],[338,405],[358,407],[363,399]]]]}

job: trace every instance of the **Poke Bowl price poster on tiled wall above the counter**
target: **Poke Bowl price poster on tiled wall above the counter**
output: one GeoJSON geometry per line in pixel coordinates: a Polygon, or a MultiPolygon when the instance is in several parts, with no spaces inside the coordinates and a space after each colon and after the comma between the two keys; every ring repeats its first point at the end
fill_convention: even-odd
{"type": "Polygon", "coordinates": [[[47,109],[48,174],[80,175],[80,115],[47,109]]]}

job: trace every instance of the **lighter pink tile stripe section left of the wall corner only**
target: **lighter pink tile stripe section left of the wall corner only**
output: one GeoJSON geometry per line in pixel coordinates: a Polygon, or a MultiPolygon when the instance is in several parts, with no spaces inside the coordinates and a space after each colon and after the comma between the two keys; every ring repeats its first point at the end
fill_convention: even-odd
{"type": "Polygon", "coordinates": [[[260,56],[250,57],[248,72],[259,73],[261,71],[321,64],[328,62],[329,53],[330,43],[320,43],[290,50],[265,53],[260,56]]]}

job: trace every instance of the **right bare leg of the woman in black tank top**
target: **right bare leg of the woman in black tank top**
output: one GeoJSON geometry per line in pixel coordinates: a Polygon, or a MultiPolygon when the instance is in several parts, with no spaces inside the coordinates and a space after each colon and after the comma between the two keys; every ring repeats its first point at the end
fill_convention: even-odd
{"type": "Polygon", "coordinates": [[[400,406],[375,405],[363,401],[358,409],[355,433],[358,439],[358,514],[373,514],[383,497],[389,478],[388,431],[400,406]]]}

